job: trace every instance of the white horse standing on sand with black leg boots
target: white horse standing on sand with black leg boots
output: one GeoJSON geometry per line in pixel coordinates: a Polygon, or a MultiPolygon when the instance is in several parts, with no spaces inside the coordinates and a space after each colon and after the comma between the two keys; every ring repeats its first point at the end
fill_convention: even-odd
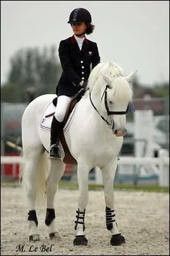
{"type": "MultiPolygon", "coordinates": [[[[114,175],[117,156],[126,133],[126,114],[132,100],[132,79],[135,72],[125,76],[115,63],[98,64],[89,76],[86,92],[76,104],[70,124],[64,133],[70,154],[77,162],[79,202],[75,220],[74,245],[88,243],[84,235],[84,218],[88,204],[88,174],[98,166],[102,171],[105,195],[105,220],[111,232],[111,244],[125,243],[116,223],[114,212],[114,175]]],[[[56,98],[54,94],[37,97],[22,116],[22,146],[24,169],[20,173],[28,200],[29,241],[40,239],[35,204],[40,197],[47,198],[45,224],[49,237],[58,236],[54,211],[54,196],[59,180],[65,172],[65,149],[61,148],[62,160],[48,159],[50,129],[40,125],[45,109],[56,98]],[[45,167],[46,166],[46,167],[45,167]]],[[[68,161],[69,163],[69,161],[68,161]]],[[[69,195],[68,195],[69,196],[69,195]]]]}

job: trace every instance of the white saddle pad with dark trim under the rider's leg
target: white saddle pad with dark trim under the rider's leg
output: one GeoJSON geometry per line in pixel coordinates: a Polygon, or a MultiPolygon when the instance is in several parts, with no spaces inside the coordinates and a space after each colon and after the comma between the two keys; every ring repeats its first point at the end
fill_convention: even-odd
{"type": "MultiPolygon", "coordinates": [[[[78,104],[79,102],[77,102],[78,104]]],[[[63,129],[63,132],[67,132],[71,123],[72,123],[72,117],[73,114],[75,113],[76,109],[77,109],[77,104],[75,104],[75,107],[73,108],[72,112],[70,113],[70,116],[68,117],[68,120],[66,121],[65,127],[63,129]]],[[[46,131],[50,131],[50,126],[51,126],[51,122],[52,122],[52,118],[54,116],[54,112],[56,111],[56,107],[54,106],[54,104],[52,102],[50,102],[50,104],[47,106],[47,108],[45,109],[43,115],[42,115],[42,119],[40,122],[40,127],[46,131]],[[53,115],[52,115],[53,113],[53,115]]]]}

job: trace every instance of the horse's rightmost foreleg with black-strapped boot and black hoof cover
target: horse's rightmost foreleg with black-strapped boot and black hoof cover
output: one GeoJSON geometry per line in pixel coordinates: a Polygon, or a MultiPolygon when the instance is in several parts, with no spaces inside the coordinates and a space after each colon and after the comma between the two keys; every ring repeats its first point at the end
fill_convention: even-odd
{"type": "Polygon", "coordinates": [[[114,212],[114,189],[113,181],[117,168],[117,159],[109,162],[107,166],[102,168],[102,179],[104,185],[104,194],[105,194],[105,219],[106,227],[112,234],[111,244],[120,245],[125,243],[125,238],[121,236],[118,231],[118,225],[116,223],[116,217],[114,212]]]}

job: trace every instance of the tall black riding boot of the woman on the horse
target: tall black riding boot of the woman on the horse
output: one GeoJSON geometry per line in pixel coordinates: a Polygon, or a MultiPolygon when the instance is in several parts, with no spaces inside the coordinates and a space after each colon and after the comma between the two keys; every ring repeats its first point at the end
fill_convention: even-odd
{"type": "Polygon", "coordinates": [[[58,147],[59,136],[62,129],[63,122],[59,122],[55,116],[52,118],[51,128],[50,128],[50,150],[49,158],[61,159],[61,152],[58,147]]]}

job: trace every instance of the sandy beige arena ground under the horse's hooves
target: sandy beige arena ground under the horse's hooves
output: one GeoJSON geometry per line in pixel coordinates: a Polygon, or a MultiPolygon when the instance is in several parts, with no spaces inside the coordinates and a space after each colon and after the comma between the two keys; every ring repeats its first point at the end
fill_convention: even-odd
{"type": "Polygon", "coordinates": [[[89,191],[85,219],[88,246],[73,246],[77,190],[59,189],[56,196],[58,239],[49,239],[46,209],[38,207],[41,240],[35,243],[29,242],[27,207],[21,195],[20,188],[1,187],[1,255],[169,255],[169,194],[115,191],[118,228],[126,239],[121,246],[110,244],[103,191],[89,191]],[[16,252],[19,244],[26,252],[16,252]],[[42,245],[51,246],[51,252],[41,252],[42,245]],[[37,252],[28,252],[36,246],[37,252]]]}

